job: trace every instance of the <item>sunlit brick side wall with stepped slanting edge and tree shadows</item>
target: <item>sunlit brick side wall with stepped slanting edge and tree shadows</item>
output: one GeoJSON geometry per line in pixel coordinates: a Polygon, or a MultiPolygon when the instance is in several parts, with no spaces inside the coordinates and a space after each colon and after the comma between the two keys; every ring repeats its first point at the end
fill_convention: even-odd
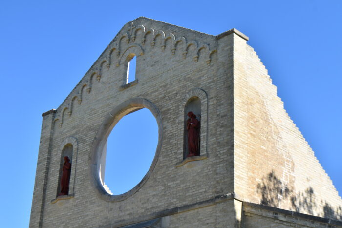
{"type": "Polygon", "coordinates": [[[342,200],[265,66],[245,42],[234,48],[235,171],[248,170],[235,178],[235,192],[256,204],[340,219],[342,200]]]}

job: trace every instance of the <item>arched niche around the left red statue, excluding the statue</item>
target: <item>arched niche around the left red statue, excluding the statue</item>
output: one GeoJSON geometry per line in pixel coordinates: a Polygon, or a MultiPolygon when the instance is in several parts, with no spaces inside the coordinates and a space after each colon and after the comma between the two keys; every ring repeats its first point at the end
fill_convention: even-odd
{"type": "Polygon", "coordinates": [[[76,175],[76,166],[77,166],[77,151],[78,151],[78,143],[77,139],[73,136],[65,138],[59,148],[61,151],[60,157],[60,168],[59,168],[59,178],[57,183],[57,195],[60,192],[60,180],[62,175],[62,167],[63,167],[63,157],[68,156],[71,163],[71,172],[70,172],[70,181],[69,181],[69,196],[74,195],[75,188],[75,175],[76,175]]]}

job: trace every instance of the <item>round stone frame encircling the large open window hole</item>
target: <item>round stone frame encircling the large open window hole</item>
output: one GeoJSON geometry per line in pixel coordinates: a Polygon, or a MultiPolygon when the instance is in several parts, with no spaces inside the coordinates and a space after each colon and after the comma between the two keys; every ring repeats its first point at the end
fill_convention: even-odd
{"type": "Polygon", "coordinates": [[[149,100],[144,98],[131,98],[118,106],[116,106],[111,112],[107,114],[101,126],[99,127],[96,136],[94,138],[91,150],[90,150],[90,180],[95,192],[98,196],[107,202],[118,202],[127,199],[129,196],[135,194],[148,180],[152,173],[160,154],[161,146],[163,142],[163,125],[159,110],[149,100]],[[104,183],[102,182],[101,169],[104,168],[103,162],[105,162],[104,155],[106,153],[107,137],[115,124],[119,122],[125,115],[137,111],[142,108],[147,108],[155,117],[158,124],[158,144],[156,147],[155,155],[150,165],[149,171],[145,174],[143,179],[128,192],[120,195],[110,195],[107,193],[104,183]]]}

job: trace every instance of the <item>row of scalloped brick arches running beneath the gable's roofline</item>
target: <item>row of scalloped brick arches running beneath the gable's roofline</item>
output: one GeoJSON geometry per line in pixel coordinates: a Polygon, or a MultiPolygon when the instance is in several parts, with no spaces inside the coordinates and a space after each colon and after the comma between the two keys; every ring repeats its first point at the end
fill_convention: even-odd
{"type": "MultiPolygon", "coordinates": [[[[168,33],[168,35],[165,34],[166,33],[163,30],[148,28],[143,24],[136,25],[129,32],[125,31],[121,34],[118,34],[117,39],[115,38],[114,41],[108,45],[105,52],[91,66],[91,68],[85,74],[85,77],[81,80],[80,84],[77,85],[76,90],[72,92],[74,95],[70,94],[69,98],[67,98],[68,100],[64,101],[67,105],[64,104],[63,109],[60,107],[57,110],[57,112],[60,112],[58,116],[59,120],[61,120],[59,126],[62,127],[63,124],[65,106],[68,108],[69,116],[71,116],[75,100],[77,99],[78,104],[82,104],[82,101],[84,100],[84,90],[90,94],[93,89],[94,77],[98,82],[100,82],[101,78],[103,77],[103,70],[105,69],[104,67],[109,69],[113,63],[114,65],[119,66],[127,61],[128,55],[131,53],[134,53],[136,56],[145,54],[145,49],[143,46],[146,44],[148,36],[151,36],[151,38],[149,38],[149,41],[151,39],[151,43],[149,43],[150,45],[145,45],[146,51],[151,50],[151,48],[155,46],[156,39],[159,37],[158,39],[162,39],[161,51],[164,51],[166,42],[171,41],[171,48],[168,48],[168,52],[170,52],[171,55],[175,55],[176,51],[179,50],[183,59],[191,57],[194,62],[198,62],[199,59],[201,59],[201,61],[204,60],[208,66],[211,65],[212,56],[217,53],[216,44],[214,44],[214,48],[211,49],[210,45],[206,43],[199,43],[196,40],[188,41],[184,36],[177,38],[173,33],[168,33]],[[140,38],[139,34],[139,39],[137,39],[137,33],[140,30],[142,32],[142,38],[140,38]],[[205,49],[205,51],[202,52],[202,49],[205,49]],[[205,56],[202,58],[200,55],[205,56]]],[[[175,56],[174,58],[179,58],[179,55],[175,56]]],[[[55,119],[57,119],[57,117],[55,119]]]]}

